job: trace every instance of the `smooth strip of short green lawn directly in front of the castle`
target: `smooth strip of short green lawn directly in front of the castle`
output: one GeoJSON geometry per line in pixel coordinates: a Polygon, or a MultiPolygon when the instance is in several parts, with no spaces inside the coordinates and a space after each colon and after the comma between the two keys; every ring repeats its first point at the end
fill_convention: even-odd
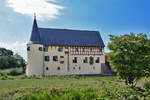
{"type": "Polygon", "coordinates": [[[116,77],[50,77],[41,79],[21,79],[15,77],[14,80],[0,80],[0,94],[7,93],[9,91],[18,88],[47,88],[47,87],[99,87],[100,82],[116,80],[116,77]]]}

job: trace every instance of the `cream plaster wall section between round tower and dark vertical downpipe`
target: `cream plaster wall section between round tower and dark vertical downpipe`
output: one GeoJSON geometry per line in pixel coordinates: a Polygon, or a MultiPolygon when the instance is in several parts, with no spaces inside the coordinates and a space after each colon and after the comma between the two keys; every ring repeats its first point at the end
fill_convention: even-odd
{"type": "Polygon", "coordinates": [[[48,52],[44,52],[44,56],[49,56],[50,61],[44,61],[44,74],[46,76],[49,75],[67,75],[67,55],[65,54],[65,48],[63,47],[63,51],[58,51],[58,46],[49,46],[48,52]],[[53,61],[53,56],[58,56],[58,61],[53,61]],[[60,56],[64,56],[64,58],[60,58],[60,56]],[[60,64],[60,61],[64,61],[64,64],[60,64]],[[46,70],[48,67],[48,70],[46,70]],[[60,67],[60,70],[57,68],[60,67]]]}

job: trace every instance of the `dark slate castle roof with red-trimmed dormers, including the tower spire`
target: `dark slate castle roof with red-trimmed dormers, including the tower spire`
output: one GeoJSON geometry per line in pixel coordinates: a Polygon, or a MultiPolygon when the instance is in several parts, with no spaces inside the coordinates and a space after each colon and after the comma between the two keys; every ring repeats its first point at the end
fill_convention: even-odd
{"type": "Polygon", "coordinates": [[[36,19],[30,41],[44,45],[104,46],[98,31],[38,28],[36,19]]]}

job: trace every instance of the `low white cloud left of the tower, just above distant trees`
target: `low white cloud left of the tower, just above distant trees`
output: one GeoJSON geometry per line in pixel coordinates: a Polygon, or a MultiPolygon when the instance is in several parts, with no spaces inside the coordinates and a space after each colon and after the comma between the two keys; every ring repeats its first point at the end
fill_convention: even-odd
{"type": "Polygon", "coordinates": [[[12,50],[14,53],[18,53],[21,55],[24,59],[26,59],[26,43],[20,43],[18,41],[14,43],[4,43],[0,42],[0,48],[6,48],[9,50],[12,50]]]}

